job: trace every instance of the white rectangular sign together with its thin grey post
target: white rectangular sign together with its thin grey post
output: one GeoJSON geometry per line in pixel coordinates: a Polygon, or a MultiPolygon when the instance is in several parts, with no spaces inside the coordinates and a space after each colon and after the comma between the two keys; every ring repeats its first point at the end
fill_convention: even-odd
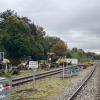
{"type": "Polygon", "coordinates": [[[29,69],[33,72],[33,90],[35,90],[35,72],[34,69],[38,68],[38,61],[29,61],[29,69]]]}

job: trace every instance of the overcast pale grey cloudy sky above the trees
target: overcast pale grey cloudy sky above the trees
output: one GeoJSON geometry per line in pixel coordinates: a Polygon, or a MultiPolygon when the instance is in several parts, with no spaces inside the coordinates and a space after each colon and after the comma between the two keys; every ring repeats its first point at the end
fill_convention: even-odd
{"type": "Polygon", "coordinates": [[[100,0],[0,0],[0,12],[15,10],[69,48],[100,52],[100,0]]]}

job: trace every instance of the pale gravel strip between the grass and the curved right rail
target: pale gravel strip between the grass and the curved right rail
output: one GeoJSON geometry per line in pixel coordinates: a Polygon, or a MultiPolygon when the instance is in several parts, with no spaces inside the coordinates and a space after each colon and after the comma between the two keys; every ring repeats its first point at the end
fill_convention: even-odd
{"type": "Polygon", "coordinates": [[[93,66],[88,67],[84,71],[80,71],[78,73],[79,77],[74,76],[74,78],[70,80],[70,85],[66,85],[64,92],[62,92],[60,96],[53,97],[52,100],[67,100],[72,95],[73,91],[75,91],[75,89],[77,89],[77,87],[81,84],[84,78],[91,72],[92,68],[93,66]]]}

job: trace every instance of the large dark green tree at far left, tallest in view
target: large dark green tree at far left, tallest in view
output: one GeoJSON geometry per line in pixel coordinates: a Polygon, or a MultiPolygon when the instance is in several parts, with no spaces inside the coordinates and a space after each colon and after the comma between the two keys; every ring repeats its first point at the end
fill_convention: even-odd
{"type": "Polygon", "coordinates": [[[9,58],[21,58],[32,54],[34,39],[31,38],[30,26],[22,19],[6,11],[0,14],[3,21],[0,27],[0,43],[9,58]]]}

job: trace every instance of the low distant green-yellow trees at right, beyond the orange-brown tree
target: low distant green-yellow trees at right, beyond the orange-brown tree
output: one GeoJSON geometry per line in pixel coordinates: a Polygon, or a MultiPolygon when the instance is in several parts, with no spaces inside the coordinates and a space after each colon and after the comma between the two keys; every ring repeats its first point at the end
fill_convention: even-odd
{"type": "Polygon", "coordinates": [[[83,49],[72,48],[72,50],[67,50],[66,56],[68,58],[77,58],[80,62],[87,62],[91,60],[99,60],[100,55],[94,52],[85,52],[83,49]]]}

